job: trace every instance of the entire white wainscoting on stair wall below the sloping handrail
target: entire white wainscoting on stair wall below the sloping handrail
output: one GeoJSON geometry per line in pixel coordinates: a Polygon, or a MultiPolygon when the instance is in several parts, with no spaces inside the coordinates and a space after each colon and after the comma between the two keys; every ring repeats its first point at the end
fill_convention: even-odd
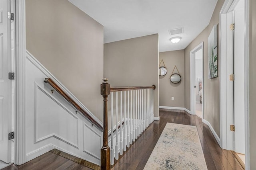
{"type": "Polygon", "coordinates": [[[26,162],[55,148],[100,165],[102,131],[52,93],[44,79],[58,80],[28,52],[25,71],[26,162]]]}

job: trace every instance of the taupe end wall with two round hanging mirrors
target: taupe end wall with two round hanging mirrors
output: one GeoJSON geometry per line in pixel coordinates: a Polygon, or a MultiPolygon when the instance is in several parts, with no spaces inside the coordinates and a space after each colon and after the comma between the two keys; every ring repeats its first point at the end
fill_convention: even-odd
{"type": "MultiPolygon", "coordinates": [[[[159,106],[184,107],[184,50],[159,53],[159,63],[162,59],[166,65],[167,74],[165,76],[159,76],[159,106]],[[174,84],[170,81],[170,76],[175,65],[181,76],[181,82],[178,84],[174,84]],[[171,97],[174,97],[174,100],[171,100],[171,97]]],[[[161,64],[161,66],[163,66],[163,64],[161,64]]],[[[174,73],[177,73],[176,69],[174,73]]]]}

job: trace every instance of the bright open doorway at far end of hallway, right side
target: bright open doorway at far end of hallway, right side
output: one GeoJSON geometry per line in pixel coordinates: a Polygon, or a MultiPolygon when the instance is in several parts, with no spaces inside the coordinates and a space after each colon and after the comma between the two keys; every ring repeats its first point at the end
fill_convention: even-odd
{"type": "Polygon", "coordinates": [[[204,44],[190,51],[190,113],[204,118],[204,44]]]}

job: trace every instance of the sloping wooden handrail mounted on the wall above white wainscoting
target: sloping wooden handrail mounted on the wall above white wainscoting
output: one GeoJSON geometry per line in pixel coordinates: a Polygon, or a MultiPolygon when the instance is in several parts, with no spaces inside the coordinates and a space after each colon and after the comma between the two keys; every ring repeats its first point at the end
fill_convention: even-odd
{"type": "Polygon", "coordinates": [[[89,119],[94,125],[96,125],[101,131],[103,127],[95,121],[84,109],[82,109],[74,100],[72,100],[51,78],[44,79],[45,83],[48,83],[54,90],[56,90],[64,99],[66,99],[72,106],[74,106],[80,113],[82,113],[87,119],[89,119]]]}

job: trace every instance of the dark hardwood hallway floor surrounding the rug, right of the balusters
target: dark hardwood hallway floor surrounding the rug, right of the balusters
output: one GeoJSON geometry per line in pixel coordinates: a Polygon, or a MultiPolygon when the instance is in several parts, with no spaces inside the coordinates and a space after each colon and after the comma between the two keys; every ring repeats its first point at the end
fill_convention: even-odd
{"type": "Polygon", "coordinates": [[[178,110],[160,110],[160,121],[154,121],[134,144],[115,162],[112,170],[143,170],[166,123],[194,125],[204,152],[208,170],[243,170],[231,151],[221,149],[209,127],[196,115],[178,110]]]}

